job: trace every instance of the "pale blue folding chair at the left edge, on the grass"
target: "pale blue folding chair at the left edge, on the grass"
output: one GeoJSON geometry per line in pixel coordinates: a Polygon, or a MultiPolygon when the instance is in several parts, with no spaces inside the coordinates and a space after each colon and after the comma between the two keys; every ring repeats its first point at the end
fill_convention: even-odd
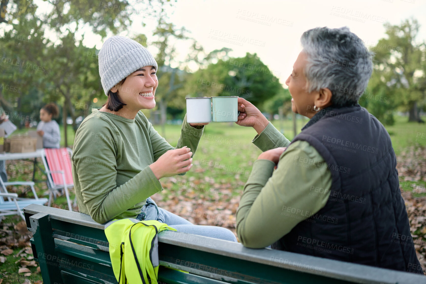
{"type": "MultiPolygon", "coordinates": [[[[22,209],[30,204],[43,205],[47,202],[47,198],[38,198],[32,181],[9,181],[3,182],[0,178],[0,216],[20,215],[24,219],[22,209]],[[7,185],[28,185],[34,194],[34,198],[19,198],[16,193],[7,192],[7,185]],[[5,200],[7,198],[7,200],[5,200]]],[[[1,220],[1,219],[0,219],[1,220]]]]}

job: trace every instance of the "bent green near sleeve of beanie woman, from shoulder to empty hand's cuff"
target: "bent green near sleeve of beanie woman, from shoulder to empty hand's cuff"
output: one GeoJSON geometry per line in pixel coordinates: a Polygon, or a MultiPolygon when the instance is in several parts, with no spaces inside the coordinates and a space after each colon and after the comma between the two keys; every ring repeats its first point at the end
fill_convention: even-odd
{"type": "Polygon", "coordinates": [[[163,189],[149,166],[117,186],[115,141],[121,140],[109,122],[91,118],[78,129],[74,143],[72,163],[80,187],[76,192],[89,215],[101,224],[163,189]]]}

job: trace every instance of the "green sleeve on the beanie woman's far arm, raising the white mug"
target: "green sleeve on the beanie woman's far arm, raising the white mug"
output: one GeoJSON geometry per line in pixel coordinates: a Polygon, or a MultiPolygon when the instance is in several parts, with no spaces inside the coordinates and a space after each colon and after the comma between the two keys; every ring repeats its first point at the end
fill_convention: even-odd
{"type": "MultiPolygon", "coordinates": [[[[153,146],[154,161],[157,161],[158,158],[160,158],[161,155],[163,155],[168,150],[178,149],[184,146],[187,146],[191,149],[191,152],[193,153],[193,158],[200,142],[201,136],[203,135],[203,130],[204,126],[190,126],[189,123],[187,123],[187,118],[185,115],[184,121],[182,123],[181,136],[179,137],[178,144],[175,148],[171,146],[166,141],[166,139],[161,137],[161,135],[158,134],[158,132],[154,129],[153,125],[150,123],[150,140],[153,146]]],[[[179,175],[185,174],[186,172],[183,172],[179,175]]]]}

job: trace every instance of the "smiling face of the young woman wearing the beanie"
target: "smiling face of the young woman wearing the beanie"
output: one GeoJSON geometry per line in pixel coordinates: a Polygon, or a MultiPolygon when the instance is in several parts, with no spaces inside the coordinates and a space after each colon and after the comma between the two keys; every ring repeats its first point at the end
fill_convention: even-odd
{"type": "Polygon", "coordinates": [[[117,92],[120,100],[127,104],[123,108],[138,112],[141,109],[155,107],[155,89],[158,79],[153,66],[144,66],[126,77],[121,86],[115,85],[112,92],[117,92]]]}

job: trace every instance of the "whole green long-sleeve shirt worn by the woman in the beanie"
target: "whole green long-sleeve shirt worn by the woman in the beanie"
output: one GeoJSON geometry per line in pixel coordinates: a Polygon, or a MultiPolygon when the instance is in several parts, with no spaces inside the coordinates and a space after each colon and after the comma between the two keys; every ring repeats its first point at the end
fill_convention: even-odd
{"type": "MultiPolygon", "coordinates": [[[[176,148],[196,152],[203,127],[182,123],[176,148]]],[[[98,223],[135,218],[146,199],[163,190],[150,168],[176,149],[158,134],[142,112],[135,119],[92,109],[75,134],[72,177],[80,212],[98,223]]]]}

